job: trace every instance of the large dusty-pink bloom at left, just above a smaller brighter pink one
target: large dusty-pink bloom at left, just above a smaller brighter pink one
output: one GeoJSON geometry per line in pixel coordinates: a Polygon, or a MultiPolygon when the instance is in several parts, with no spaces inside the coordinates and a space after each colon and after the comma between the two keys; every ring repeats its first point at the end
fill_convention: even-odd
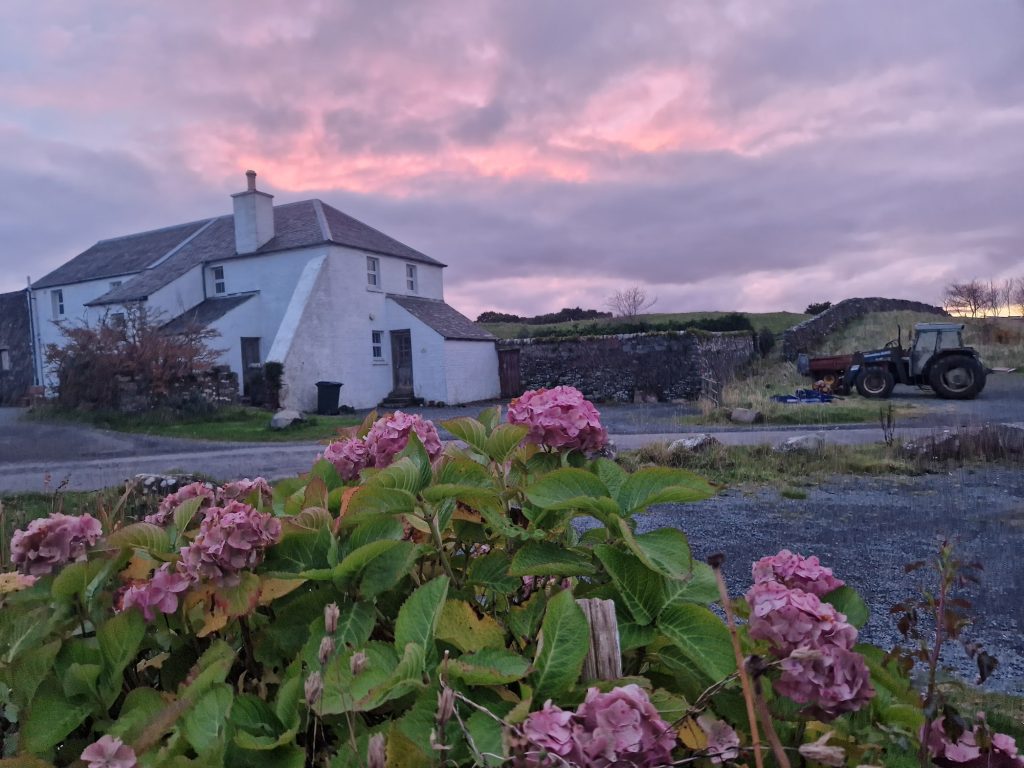
{"type": "Polygon", "coordinates": [[[196,539],[182,548],[179,568],[191,581],[234,586],[239,571],[262,562],[266,548],[280,539],[281,520],[269,513],[240,502],[211,507],[196,539]]]}

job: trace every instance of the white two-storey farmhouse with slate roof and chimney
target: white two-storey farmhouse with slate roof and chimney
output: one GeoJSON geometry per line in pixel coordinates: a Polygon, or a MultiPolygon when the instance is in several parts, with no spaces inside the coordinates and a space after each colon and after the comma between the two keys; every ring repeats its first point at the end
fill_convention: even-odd
{"type": "Polygon", "coordinates": [[[354,408],[499,395],[495,338],[444,303],[444,264],[319,200],[274,206],[246,176],[233,214],[100,241],[33,284],[36,360],[56,324],[141,302],[168,330],[219,332],[240,382],[282,362],[287,408],[312,410],[321,380],[354,408]]]}

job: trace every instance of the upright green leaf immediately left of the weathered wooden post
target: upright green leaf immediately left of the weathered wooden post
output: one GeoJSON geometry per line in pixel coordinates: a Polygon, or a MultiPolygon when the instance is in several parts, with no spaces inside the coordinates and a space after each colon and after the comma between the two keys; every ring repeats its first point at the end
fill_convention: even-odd
{"type": "Polygon", "coordinates": [[[590,649],[590,625],[572,593],[559,592],[548,602],[534,666],[534,698],[544,701],[567,691],[580,677],[590,649]]]}

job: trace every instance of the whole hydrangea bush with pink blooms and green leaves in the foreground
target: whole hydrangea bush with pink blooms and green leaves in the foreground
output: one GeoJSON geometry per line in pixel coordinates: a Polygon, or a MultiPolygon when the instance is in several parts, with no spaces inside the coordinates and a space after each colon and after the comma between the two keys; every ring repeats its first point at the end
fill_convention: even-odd
{"type": "Polygon", "coordinates": [[[575,390],[443,426],[459,445],[369,419],[272,490],[199,483],[141,522],[15,534],[0,733],[22,762],[0,766],[660,768],[771,764],[769,742],[853,766],[912,761],[923,737],[939,765],[1017,760],[983,725],[926,721],[816,558],[767,557],[723,603],[682,531],[638,532],[714,488],[594,458],[606,435],[575,390]],[[621,680],[582,677],[585,598],[615,606],[621,680]]]}

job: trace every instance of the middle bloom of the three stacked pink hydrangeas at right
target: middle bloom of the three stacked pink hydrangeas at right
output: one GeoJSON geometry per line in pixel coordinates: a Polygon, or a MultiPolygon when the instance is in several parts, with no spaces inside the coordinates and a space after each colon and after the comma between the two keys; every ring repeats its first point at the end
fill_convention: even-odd
{"type": "Polygon", "coordinates": [[[751,637],[770,642],[779,656],[822,643],[850,649],[857,641],[857,630],[846,616],[813,593],[761,582],[746,593],[746,601],[751,637]]]}

